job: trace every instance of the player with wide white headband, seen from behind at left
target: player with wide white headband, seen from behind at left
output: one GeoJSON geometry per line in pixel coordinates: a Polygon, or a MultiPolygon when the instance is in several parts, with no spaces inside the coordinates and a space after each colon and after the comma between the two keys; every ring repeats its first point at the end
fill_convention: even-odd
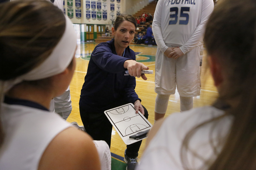
{"type": "Polygon", "coordinates": [[[48,110],[75,70],[72,21],[44,0],[0,11],[0,169],[100,170],[91,137],[48,110]]]}

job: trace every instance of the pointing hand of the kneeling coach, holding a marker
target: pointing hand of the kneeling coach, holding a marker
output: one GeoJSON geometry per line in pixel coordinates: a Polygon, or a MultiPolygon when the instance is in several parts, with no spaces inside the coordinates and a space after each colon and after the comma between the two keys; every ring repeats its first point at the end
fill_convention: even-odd
{"type": "Polygon", "coordinates": [[[138,63],[137,61],[134,60],[126,60],[124,62],[124,68],[127,68],[129,71],[130,76],[143,78],[143,80],[147,80],[148,78],[145,76],[145,74],[141,74],[141,70],[148,70],[148,67],[145,66],[142,63],[138,63]]]}

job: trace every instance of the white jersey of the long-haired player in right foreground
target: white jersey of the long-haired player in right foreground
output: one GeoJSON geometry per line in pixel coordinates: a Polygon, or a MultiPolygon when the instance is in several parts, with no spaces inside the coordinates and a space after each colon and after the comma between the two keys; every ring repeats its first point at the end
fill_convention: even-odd
{"type": "MultiPolygon", "coordinates": [[[[144,150],[136,170],[184,170],[180,150],[186,134],[200,123],[223,114],[224,111],[208,106],[168,116],[144,150]]],[[[232,117],[225,117],[216,124],[208,123],[200,127],[192,135],[188,143],[190,150],[185,151],[189,169],[198,170],[204,167],[204,160],[210,159],[210,162],[213,162],[216,159],[209,138],[212,137],[212,144],[218,146],[217,152],[220,152],[222,146],[218,145],[217,140],[225,140],[231,124],[232,117]],[[198,157],[194,156],[193,152],[197,153],[198,157]]]]}

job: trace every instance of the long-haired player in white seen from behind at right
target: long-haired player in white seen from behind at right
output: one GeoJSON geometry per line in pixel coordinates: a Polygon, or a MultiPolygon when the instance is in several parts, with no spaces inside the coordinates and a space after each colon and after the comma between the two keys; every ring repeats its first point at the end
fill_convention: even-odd
{"type": "Polygon", "coordinates": [[[157,121],[136,170],[256,170],[255,11],[218,2],[204,35],[218,100],[157,121]]]}

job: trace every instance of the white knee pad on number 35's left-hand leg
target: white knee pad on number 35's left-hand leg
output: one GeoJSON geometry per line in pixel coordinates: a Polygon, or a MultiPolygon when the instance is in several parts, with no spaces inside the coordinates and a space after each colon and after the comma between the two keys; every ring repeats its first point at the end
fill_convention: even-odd
{"type": "Polygon", "coordinates": [[[168,106],[170,94],[157,94],[155,112],[165,114],[168,106]]]}

